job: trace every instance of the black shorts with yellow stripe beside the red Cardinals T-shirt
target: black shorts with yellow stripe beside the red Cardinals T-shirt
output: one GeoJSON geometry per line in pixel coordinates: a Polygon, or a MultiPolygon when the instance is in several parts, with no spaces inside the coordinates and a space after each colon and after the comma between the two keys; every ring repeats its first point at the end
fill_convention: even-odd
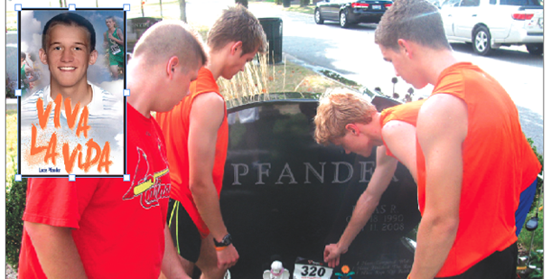
{"type": "Polygon", "coordinates": [[[169,200],[166,219],[178,254],[192,263],[197,263],[201,253],[201,235],[180,201],[169,200]]]}

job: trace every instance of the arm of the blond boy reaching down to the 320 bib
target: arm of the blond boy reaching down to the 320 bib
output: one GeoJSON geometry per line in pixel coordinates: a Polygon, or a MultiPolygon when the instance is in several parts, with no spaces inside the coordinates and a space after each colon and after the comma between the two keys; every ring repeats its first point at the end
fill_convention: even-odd
{"type": "Polygon", "coordinates": [[[325,246],[323,251],[323,261],[328,263],[330,267],[339,265],[341,254],[348,251],[350,243],[366,226],[373,211],[377,208],[381,196],[387,191],[388,184],[392,180],[396,168],[397,160],[387,155],[387,148],[384,145],[378,146],[377,166],[371,176],[368,188],[361,194],[356,203],[350,222],[342,233],[339,242],[325,246]]]}

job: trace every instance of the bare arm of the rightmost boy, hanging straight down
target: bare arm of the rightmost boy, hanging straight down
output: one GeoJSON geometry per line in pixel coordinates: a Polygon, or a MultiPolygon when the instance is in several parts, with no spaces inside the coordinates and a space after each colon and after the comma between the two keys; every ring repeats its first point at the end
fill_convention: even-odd
{"type": "Polygon", "coordinates": [[[417,232],[411,279],[434,278],[453,246],[459,227],[462,143],[468,113],[460,98],[436,94],[417,118],[417,138],[425,154],[425,212],[417,232]]]}

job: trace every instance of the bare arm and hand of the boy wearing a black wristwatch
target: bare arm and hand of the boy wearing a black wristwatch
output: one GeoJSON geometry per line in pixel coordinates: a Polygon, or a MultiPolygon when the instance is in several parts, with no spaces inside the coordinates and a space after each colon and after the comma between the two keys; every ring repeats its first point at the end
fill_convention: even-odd
{"type": "MultiPolygon", "coordinates": [[[[221,241],[228,234],[219,207],[219,195],[212,181],[218,129],[226,110],[224,100],[216,93],[204,93],[193,100],[190,113],[188,151],[190,190],[201,218],[210,234],[221,241]]],[[[214,246],[214,243],[212,243],[214,246]]],[[[229,245],[217,252],[219,268],[229,268],[238,260],[238,251],[229,245]]]]}

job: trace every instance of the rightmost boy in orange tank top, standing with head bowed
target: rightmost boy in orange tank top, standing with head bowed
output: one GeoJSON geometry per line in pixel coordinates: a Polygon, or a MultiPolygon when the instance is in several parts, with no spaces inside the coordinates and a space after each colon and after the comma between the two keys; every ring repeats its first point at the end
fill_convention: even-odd
{"type": "Polygon", "coordinates": [[[417,117],[422,219],[409,278],[515,278],[515,211],[541,169],[515,104],[497,80],[454,58],[438,9],[424,0],[397,0],[375,42],[397,76],[434,85],[417,117]]]}

